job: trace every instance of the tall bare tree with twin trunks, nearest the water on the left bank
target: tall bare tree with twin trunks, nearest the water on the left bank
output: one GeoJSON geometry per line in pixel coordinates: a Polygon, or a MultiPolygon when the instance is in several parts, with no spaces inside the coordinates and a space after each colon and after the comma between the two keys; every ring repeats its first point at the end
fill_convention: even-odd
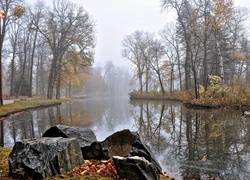
{"type": "Polygon", "coordinates": [[[86,58],[93,58],[94,21],[81,7],[67,0],[53,1],[42,26],[36,26],[45,37],[52,60],[49,71],[47,97],[52,99],[56,86],[56,98],[60,98],[63,57],[69,50],[78,49],[86,58]]]}

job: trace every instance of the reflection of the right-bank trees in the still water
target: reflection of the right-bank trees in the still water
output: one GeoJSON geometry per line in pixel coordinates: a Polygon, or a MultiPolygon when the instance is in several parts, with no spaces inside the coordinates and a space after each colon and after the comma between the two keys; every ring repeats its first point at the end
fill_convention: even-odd
{"type": "Polygon", "coordinates": [[[177,179],[250,179],[250,119],[240,111],[190,110],[178,103],[137,101],[139,133],[177,179]]]}

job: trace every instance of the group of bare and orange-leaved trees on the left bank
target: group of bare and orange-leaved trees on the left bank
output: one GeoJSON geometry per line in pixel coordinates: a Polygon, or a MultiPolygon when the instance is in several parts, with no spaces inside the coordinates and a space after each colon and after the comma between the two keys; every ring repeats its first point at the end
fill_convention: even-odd
{"type": "Polygon", "coordinates": [[[0,9],[5,93],[60,99],[84,83],[94,62],[95,22],[83,7],[4,0],[0,9]]]}

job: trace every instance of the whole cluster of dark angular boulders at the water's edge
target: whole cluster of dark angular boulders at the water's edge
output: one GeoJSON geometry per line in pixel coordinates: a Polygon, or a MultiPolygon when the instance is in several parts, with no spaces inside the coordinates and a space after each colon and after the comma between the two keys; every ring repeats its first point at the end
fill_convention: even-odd
{"type": "Polygon", "coordinates": [[[9,157],[14,179],[44,179],[65,173],[84,159],[113,158],[118,174],[127,179],[159,179],[162,169],[150,148],[136,132],[115,132],[98,142],[86,128],[57,125],[41,139],[17,142],[9,157]]]}

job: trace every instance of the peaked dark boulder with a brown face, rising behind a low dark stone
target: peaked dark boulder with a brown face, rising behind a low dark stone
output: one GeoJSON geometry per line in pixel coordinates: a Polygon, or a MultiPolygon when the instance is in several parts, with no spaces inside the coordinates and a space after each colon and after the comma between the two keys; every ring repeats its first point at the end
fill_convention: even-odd
{"type": "Polygon", "coordinates": [[[104,148],[108,149],[109,156],[139,156],[145,158],[150,163],[153,163],[159,173],[162,173],[162,168],[159,162],[154,157],[150,148],[143,144],[140,136],[136,132],[131,132],[129,129],[117,131],[103,141],[104,148]]]}

